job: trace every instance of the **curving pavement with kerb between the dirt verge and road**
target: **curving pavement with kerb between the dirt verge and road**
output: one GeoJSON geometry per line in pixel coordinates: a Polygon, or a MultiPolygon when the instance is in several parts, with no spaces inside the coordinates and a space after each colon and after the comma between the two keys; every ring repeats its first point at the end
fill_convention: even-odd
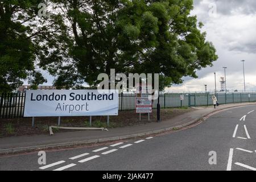
{"type": "Polygon", "coordinates": [[[237,103],[220,105],[217,109],[212,107],[195,107],[197,110],[179,115],[162,122],[147,123],[109,129],[109,131],[72,131],[49,135],[33,135],[24,137],[7,137],[0,139],[0,155],[15,154],[35,150],[47,150],[56,147],[73,147],[77,145],[114,142],[117,140],[135,139],[160,134],[166,131],[182,129],[188,126],[196,126],[211,114],[233,107],[255,105],[255,103],[237,103]]]}

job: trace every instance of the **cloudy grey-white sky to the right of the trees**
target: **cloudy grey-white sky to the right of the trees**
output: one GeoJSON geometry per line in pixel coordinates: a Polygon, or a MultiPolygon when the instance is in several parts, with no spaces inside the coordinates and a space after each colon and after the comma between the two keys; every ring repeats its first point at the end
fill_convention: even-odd
{"type": "Polygon", "coordinates": [[[184,84],[172,86],[168,91],[214,90],[214,72],[217,77],[217,90],[220,77],[226,69],[226,85],[229,90],[243,90],[243,70],[245,62],[246,90],[256,90],[256,1],[255,0],[194,0],[192,14],[204,23],[203,31],[207,40],[217,49],[218,60],[211,68],[197,72],[199,78],[184,78],[184,84]]]}

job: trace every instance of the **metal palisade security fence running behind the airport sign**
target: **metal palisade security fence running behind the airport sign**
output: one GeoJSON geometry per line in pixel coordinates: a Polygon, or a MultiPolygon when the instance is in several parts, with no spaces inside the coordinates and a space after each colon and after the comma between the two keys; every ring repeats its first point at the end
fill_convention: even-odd
{"type": "MultiPolygon", "coordinates": [[[[210,93],[187,93],[184,101],[180,101],[180,93],[160,94],[160,106],[164,109],[174,107],[193,107],[212,105],[210,93]]],[[[25,93],[2,93],[0,96],[0,118],[20,118],[24,113],[25,93]]],[[[230,104],[237,102],[255,102],[256,93],[217,93],[219,104],[230,104]]],[[[135,94],[119,94],[119,111],[135,110],[135,94]]],[[[153,101],[156,109],[157,100],[153,101]]]]}

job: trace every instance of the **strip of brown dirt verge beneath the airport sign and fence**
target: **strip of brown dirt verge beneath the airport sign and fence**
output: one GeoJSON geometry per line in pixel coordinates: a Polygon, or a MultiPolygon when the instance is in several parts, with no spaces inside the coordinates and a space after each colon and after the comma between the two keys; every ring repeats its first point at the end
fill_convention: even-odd
{"type": "MultiPolygon", "coordinates": [[[[195,109],[183,107],[182,109],[161,109],[161,119],[176,117],[184,113],[188,113],[195,109]]],[[[142,114],[139,121],[139,114],[135,111],[122,111],[118,116],[110,116],[109,128],[125,127],[134,125],[144,125],[148,122],[156,122],[156,110],[150,114],[148,121],[147,114],[142,114]]],[[[49,126],[57,126],[57,117],[38,117],[35,118],[35,128],[31,127],[31,118],[13,118],[0,119],[0,138],[22,135],[39,135],[49,134],[49,126]]],[[[61,117],[61,126],[67,127],[89,127],[89,117],[61,117]]],[[[107,127],[107,117],[92,117],[92,127],[107,127]]],[[[54,129],[54,133],[68,132],[71,130],[54,129]]]]}

